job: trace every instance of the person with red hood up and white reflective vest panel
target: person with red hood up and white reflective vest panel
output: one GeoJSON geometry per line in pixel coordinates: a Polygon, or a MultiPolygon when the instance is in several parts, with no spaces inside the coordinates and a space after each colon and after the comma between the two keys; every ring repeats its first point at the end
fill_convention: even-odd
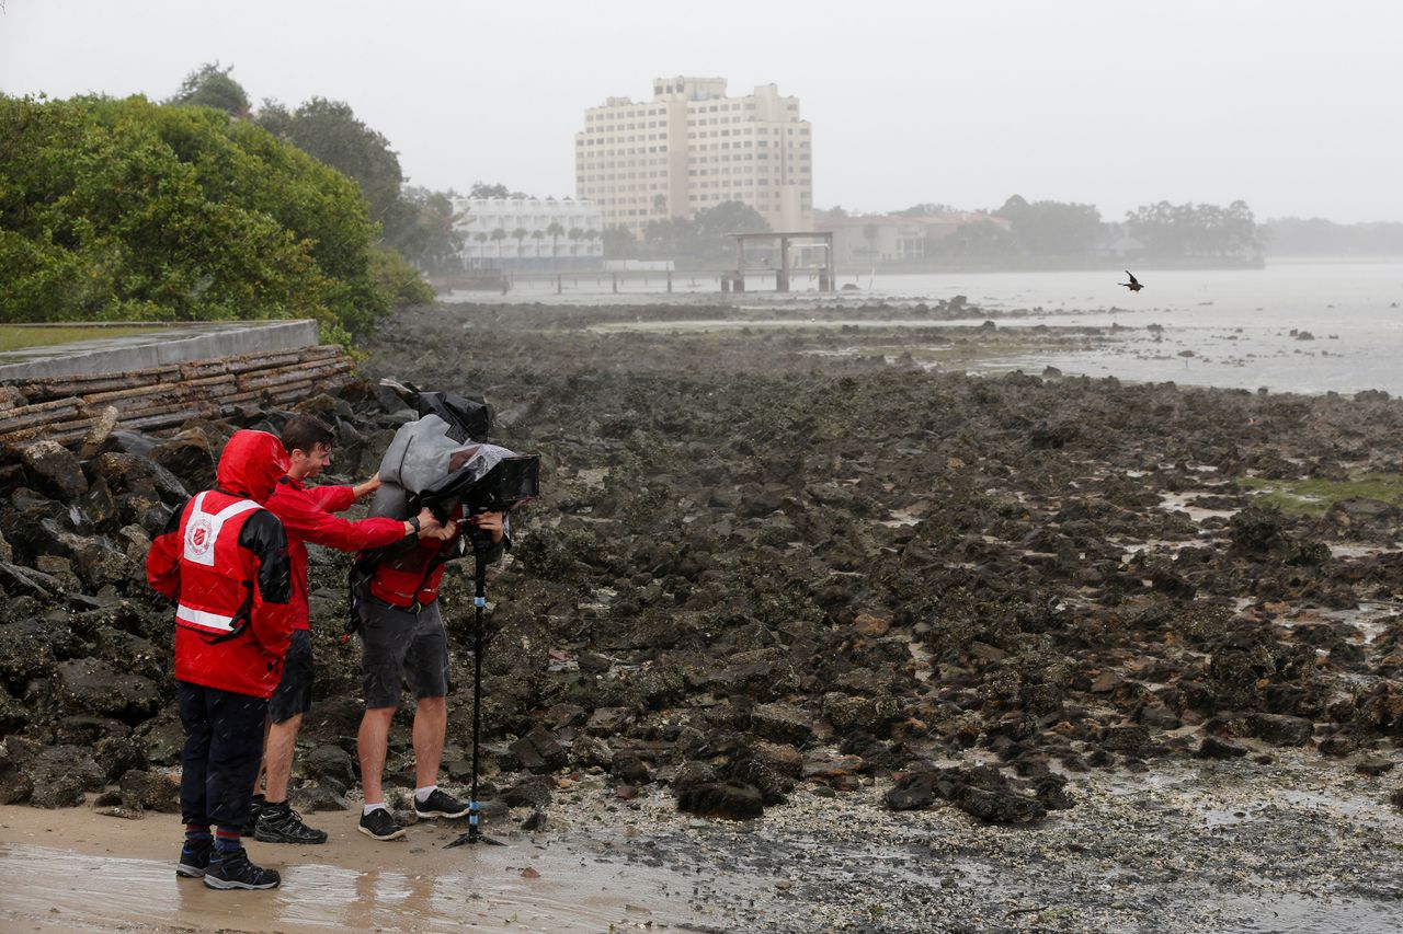
{"type": "Polygon", "coordinates": [[[234,432],[220,454],[216,487],[178,509],[146,557],[146,579],[177,603],[185,846],[175,872],[203,878],[212,889],[281,882],[276,871],[250,862],[240,830],[248,822],[268,697],[292,634],[288,539],[261,505],[286,470],[275,436],[234,432]]]}

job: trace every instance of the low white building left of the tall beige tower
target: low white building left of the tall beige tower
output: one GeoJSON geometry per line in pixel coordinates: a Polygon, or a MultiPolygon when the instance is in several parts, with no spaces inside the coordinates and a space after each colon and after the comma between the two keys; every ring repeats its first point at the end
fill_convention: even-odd
{"type": "Polygon", "coordinates": [[[598,269],[605,257],[603,217],[588,201],[457,198],[453,212],[467,269],[598,269]]]}

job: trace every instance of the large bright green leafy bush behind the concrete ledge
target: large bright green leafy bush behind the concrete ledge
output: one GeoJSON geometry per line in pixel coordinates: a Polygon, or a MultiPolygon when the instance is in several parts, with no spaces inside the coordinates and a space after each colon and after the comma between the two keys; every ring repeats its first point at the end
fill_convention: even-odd
{"type": "Polygon", "coordinates": [[[0,97],[0,318],[311,317],[349,342],[390,310],[354,182],[260,128],[140,97],[0,97]]]}

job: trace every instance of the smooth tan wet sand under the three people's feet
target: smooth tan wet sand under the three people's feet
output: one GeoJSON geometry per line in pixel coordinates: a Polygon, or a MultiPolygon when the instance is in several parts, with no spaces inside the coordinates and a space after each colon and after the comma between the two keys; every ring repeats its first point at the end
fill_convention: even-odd
{"type": "Polygon", "coordinates": [[[445,850],[463,822],[417,825],[405,840],[384,843],[358,833],[354,812],[311,823],[328,832],[327,844],[248,846],[254,861],[282,872],[279,889],[215,892],[175,875],[175,815],[123,820],[87,808],[3,806],[0,930],[595,934],[687,930],[687,919],[700,920],[683,895],[692,879],[602,862],[568,843],[445,850]]]}

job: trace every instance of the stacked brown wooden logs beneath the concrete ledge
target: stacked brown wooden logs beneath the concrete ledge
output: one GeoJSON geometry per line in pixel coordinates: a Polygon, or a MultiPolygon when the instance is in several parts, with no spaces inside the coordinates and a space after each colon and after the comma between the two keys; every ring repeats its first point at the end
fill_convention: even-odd
{"type": "Polygon", "coordinates": [[[347,381],[352,366],[340,346],[325,345],[0,384],[0,442],[76,442],[109,408],[116,428],[152,432],[285,405],[347,381]]]}

